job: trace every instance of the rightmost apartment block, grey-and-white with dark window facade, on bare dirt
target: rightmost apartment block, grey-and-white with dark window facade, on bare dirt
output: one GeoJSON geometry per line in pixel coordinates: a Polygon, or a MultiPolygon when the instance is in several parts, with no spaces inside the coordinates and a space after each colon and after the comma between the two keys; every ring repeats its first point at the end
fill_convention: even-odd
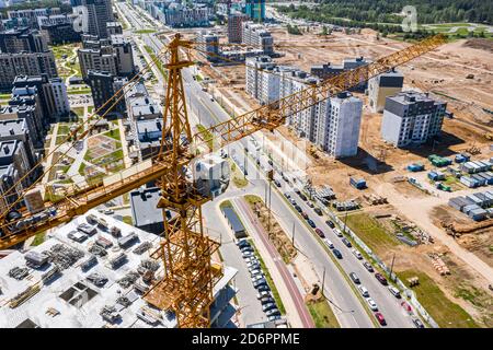
{"type": "Polygon", "coordinates": [[[406,91],[387,97],[381,137],[398,148],[425,143],[442,131],[447,104],[406,91]]]}

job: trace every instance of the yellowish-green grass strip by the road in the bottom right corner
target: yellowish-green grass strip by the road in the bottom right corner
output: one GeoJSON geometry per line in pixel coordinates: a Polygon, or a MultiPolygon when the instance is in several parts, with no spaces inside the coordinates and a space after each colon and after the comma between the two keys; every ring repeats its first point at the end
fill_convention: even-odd
{"type": "Polygon", "coordinates": [[[421,271],[406,270],[397,273],[406,283],[406,279],[416,276],[420,284],[412,288],[420,303],[426,308],[442,328],[477,328],[472,317],[459,305],[451,302],[436,283],[421,271]]]}

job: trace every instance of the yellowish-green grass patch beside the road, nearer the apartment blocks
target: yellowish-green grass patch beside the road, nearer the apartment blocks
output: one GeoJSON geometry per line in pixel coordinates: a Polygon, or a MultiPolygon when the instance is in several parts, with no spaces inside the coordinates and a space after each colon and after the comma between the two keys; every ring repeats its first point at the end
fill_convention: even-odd
{"type": "MultiPolygon", "coordinates": [[[[340,217],[340,219],[344,222],[344,217],[340,217]]],[[[385,252],[400,244],[400,241],[393,234],[387,232],[374,218],[366,213],[348,214],[347,226],[374,252],[385,252]]],[[[341,229],[344,229],[344,226],[341,229]]]]}

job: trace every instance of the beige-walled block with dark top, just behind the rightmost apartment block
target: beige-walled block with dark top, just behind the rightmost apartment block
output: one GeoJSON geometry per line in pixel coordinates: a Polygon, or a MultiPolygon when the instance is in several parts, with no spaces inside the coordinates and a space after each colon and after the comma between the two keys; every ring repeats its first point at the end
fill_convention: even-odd
{"type": "Polygon", "coordinates": [[[368,80],[368,102],[372,112],[381,113],[386,106],[386,98],[402,91],[404,75],[392,69],[368,80]]]}

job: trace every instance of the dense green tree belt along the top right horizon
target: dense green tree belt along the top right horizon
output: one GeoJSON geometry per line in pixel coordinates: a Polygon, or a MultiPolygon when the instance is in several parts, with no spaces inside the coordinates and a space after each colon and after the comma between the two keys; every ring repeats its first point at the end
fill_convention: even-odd
{"type": "Polygon", "coordinates": [[[401,23],[402,9],[414,5],[419,23],[473,22],[493,24],[493,1],[486,0],[322,0],[309,8],[294,4],[278,7],[284,13],[311,21],[329,18],[356,22],[401,23]]]}

